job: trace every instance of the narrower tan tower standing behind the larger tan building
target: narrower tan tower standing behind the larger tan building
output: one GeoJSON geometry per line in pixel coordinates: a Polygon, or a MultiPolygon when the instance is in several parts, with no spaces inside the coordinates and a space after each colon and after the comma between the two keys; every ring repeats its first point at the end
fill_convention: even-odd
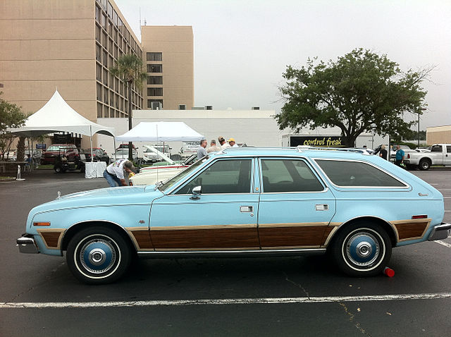
{"type": "Polygon", "coordinates": [[[185,110],[194,105],[194,38],[191,26],[142,26],[147,68],[144,109],[185,110]]]}

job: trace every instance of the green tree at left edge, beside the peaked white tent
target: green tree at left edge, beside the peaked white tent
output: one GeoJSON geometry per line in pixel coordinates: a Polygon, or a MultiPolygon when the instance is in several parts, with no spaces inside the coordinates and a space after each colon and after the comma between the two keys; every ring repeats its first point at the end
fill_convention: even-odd
{"type": "MultiPolygon", "coordinates": [[[[0,92],[0,95],[3,92],[0,92]]],[[[25,123],[27,116],[20,106],[6,102],[0,97],[0,160],[4,160],[5,152],[11,149],[11,144],[16,137],[8,132],[8,128],[20,128],[25,123]]]]}

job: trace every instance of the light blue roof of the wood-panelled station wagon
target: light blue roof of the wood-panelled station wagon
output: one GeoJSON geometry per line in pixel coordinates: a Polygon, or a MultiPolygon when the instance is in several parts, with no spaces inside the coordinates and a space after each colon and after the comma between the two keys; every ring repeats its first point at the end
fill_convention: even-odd
{"type": "Polygon", "coordinates": [[[335,158],[335,159],[364,159],[373,157],[371,154],[358,150],[326,147],[228,147],[211,154],[218,157],[235,156],[293,156],[310,158],[335,158]]]}

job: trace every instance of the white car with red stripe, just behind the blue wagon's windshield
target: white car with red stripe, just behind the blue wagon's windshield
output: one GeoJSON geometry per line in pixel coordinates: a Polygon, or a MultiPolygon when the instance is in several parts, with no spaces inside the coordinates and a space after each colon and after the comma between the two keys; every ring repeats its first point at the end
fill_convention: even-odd
{"type": "Polygon", "coordinates": [[[129,180],[132,185],[153,185],[157,181],[172,178],[177,173],[193,164],[194,161],[197,161],[197,154],[192,154],[192,156],[185,159],[185,161],[173,162],[173,164],[169,164],[167,161],[161,161],[161,163],[166,163],[166,165],[157,164],[154,166],[143,167],[140,169],[140,173],[132,176],[129,180]]]}

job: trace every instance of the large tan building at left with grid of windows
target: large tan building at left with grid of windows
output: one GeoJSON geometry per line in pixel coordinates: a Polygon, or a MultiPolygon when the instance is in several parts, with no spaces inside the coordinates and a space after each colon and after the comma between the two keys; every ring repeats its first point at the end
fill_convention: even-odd
{"type": "MultiPolygon", "coordinates": [[[[25,113],[58,88],[90,121],[127,117],[128,92],[109,73],[123,54],[142,57],[142,49],[112,0],[0,1],[1,90],[25,113]]],[[[142,91],[134,89],[132,109],[142,104],[142,91]]]]}

